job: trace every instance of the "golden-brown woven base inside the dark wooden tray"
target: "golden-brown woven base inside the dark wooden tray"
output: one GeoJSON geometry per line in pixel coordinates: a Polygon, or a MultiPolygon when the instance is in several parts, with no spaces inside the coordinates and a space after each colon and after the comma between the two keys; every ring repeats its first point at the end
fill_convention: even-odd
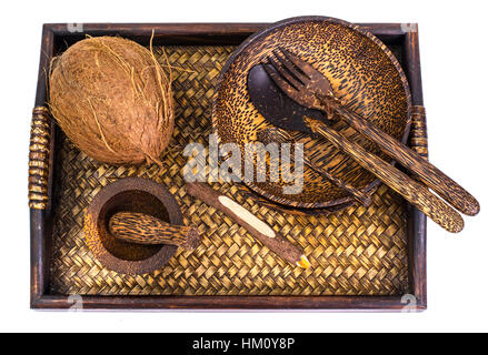
{"type": "MultiPolygon", "coordinates": [[[[299,244],[313,267],[276,257],[245,229],[186,195],[182,148],[207,143],[217,77],[233,47],[169,47],[177,118],[162,173],[153,166],[99,164],[62,134],[57,142],[56,221],[51,293],[79,295],[401,295],[408,292],[406,213],[401,199],[380,185],[368,209],[351,206],[329,216],[291,216],[256,203],[237,185],[221,192],[299,244]],[[82,232],[84,211],[108,183],[126,176],[153,179],[173,193],[186,224],[203,234],[193,252],[178,251],[163,268],[140,276],[104,268],[82,232]]],[[[161,53],[159,53],[161,54],[161,53]]],[[[160,55],[160,61],[162,58],[160,55]]],[[[59,135],[58,135],[59,136],[59,135]]]]}

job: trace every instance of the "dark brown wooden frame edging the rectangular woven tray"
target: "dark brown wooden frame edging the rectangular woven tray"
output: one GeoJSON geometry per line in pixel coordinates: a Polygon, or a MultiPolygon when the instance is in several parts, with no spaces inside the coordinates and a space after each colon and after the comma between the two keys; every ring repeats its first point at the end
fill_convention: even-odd
{"type": "MultiPolygon", "coordinates": [[[[90,36],[121,36],[140,43],[148,43],[155,29],[155,44],[239,44],[248,36],[269,23],[117,23],[83,24],[83,32],[70,31],[66,23],[44,24],[36,95],[36,106],[46,105],[49,63],[58,51],[90,36]]],[[[387,44],[401,45],[402,64],[410,83],[412,104],[422,105],[420,57],[416,26],[399,23],[360,23],[387,44]]],[[[72,29],[72,27],[71,27],[72,29]]],[[[53,166],[56,126],[51,124],[50,166],[53,166]]],[[[53,189],[51,169],[48,194],[53,189]]],[[[407,203],[406,203],[407,204],[407,203]]],[[[31,308],[69,308],[73,306],[68,295],[49,293],[53,209],[30,209],[31,237],[31,308]]],[[[409,247],[410,292],[416,297],[416,310],[427,308],[426,278],[426,216],[407,204],[407,234],[409,247]]],[[[83,308],[242,308],[242,310],[382,310],[401,311],[407,305],[400,296],[82,296],[83,308]]],[[[410,301],[411,302],[411,301],[410,301]]],[[[411,303],[409,303],[411,305],[411,303]]]]}

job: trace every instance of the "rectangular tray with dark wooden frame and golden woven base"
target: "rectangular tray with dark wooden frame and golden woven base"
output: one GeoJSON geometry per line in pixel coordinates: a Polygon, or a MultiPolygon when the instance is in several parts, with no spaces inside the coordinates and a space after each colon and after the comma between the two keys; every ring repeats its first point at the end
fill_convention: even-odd
{"type": "MultiPolygon", "coordinates": [[[[185,194],[180,169],[186,158],[180,151],[190,141],[205,142],[221,67],[237,44],[265,26],[83,24],[83,32],[68,24],[44,26],[29,160],[32,308],[69,308],[78,300],[84,308],[427,307],[426,219],[382,185],[370,207],[353,205],[330,215],[278,212],[241,186],[220,186],[300,244],[315,265],[307,271],[275,257],[243,229],[185,194]],[[39,109],[47,106],[49,62],[67,45],[86,34],[121,36],[148,45],[153,29],[155,44],[163,45],[172,64],[195,71],[180,71],[175,80],[176,129],[161,175],[157,166],[114,168],[92,161],[66,139],[46,109],[39,109]],[[178,252],[167,266],[141,276],[103,268],[84,243],[81,221],[101,186],[125,176],[167,185],[185,222],[207,229],[202,245],[193,253],[178,252]]],[[[418,32],[411,31],[416,27],[361,26],[397,55],[410,83],[412,104],[422,105],[418,32]]]]}

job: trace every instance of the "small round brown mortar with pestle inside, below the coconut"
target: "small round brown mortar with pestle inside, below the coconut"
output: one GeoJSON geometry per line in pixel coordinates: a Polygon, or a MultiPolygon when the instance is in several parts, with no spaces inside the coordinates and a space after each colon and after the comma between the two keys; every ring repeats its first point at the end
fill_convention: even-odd
{"type": "Polygon", "coordinates": [[[109,220],[118,212],[145,213],[182,225],[180,207],[173,195],[150,180],[122,179],[100,190],[84,217],[88,246],[107,268],[122,274],[146,274],[168,263],[177,246],[128,243],[109,232],[109,220]]]}

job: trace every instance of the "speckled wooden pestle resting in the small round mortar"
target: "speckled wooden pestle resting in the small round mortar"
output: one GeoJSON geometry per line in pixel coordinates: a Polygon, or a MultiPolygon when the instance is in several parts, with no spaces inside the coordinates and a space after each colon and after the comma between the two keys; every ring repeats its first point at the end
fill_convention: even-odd
{"type": "Polygon", "coordinates": [[[109,220],[117,239],[136,244],[170,244],[195,250],[200,241],[197,229],[175,225],[145,213],[118,212],[109,220]]]}

